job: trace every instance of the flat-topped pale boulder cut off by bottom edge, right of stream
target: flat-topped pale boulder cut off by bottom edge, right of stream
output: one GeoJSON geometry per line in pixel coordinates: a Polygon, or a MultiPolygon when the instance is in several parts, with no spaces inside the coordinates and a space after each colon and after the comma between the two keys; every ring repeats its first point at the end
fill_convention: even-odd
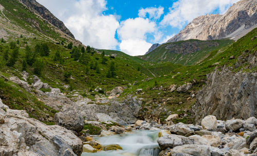
{"type": "Polygon", "coordinates": [[[194,156],[211,156],[211,150],[209,146],[206,145],[182,145],[176,146],[171,151],[172,155],[176,153],[186,153],[194,156]]]}

